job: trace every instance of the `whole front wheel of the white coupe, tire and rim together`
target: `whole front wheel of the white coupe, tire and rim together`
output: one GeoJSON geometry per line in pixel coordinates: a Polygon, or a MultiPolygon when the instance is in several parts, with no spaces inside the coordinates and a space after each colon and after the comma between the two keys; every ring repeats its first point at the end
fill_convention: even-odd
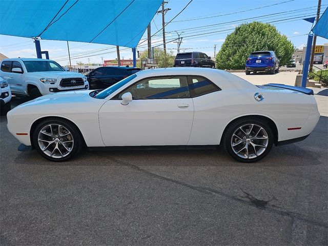
{"type": "Polygon", "coordinates": [[[35,128],[34,148],[46,159],[65,161],[74,157],[84,145],[83,136],[69,120],[49,118],[35,128]]]}

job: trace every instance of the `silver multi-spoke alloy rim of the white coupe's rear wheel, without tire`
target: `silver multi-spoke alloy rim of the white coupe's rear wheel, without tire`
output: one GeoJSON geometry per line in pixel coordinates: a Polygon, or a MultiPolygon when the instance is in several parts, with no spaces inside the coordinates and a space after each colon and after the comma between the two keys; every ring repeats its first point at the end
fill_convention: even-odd
{"type": "Polygon", "coordinates": [[[232,150],[241,158],[252,159],[263,154],[269,144],[267,131],[259,125],[239,127],[231,137],[232,150]]]}

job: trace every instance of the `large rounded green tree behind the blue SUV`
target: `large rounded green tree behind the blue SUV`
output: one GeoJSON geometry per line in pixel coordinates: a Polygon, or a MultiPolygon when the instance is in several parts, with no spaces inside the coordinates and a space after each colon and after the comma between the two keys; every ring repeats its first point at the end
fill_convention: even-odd
{"type": "Polygon", "coordinates": [[[245,61],[254,51],[273,50],[280,66],[292,59],[294,46],[277,29],[261,22],[242,24],[229,34],[216,55],[218,69],[244,69],[245,61]]]}

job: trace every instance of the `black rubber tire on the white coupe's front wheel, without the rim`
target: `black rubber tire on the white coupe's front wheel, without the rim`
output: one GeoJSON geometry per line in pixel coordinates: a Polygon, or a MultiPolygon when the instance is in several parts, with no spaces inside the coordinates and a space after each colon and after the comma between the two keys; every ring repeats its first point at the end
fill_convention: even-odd
{"type": "MultiPolygon", "coordinates": [[[[54,134],[55,134],[55,132],[56,131],[54,129],[54,134]]],[[[82,134],[80,133],[80,131],[78,130],[78,128],[71,121],[69,121],[67,119],[59,119],[59,118],[49,118],[49,119],[46,119],[46,120],[40,122],[37,125],[37,127],[35,128],[34,132],[33,132],[32,142],[33,142],[33,147],[43,157],[45,157],[46,159],[51,160],[51,161],[66,161],[70,158],[73,158],[74,156],[76,156],[81,151],[81,149],[85,145],[84,138],[83,138],[82,134]],[[40,131],[44,127],[46,127],[47,125],[57,125],[57,124],[60,125],[60,126],[63,126],[64,128],[66,128],[71,133],[70,139],[72,138],[72,140],[73,140],[73,147],[72,147],[71,152],[69,154],[67,154],[66,156],[64,156],[64,157],[59,157],[59,158],[55,158],[55,157],[47,155],[40,148],[40,146],[38,144],[38,135],[39,135],[40,131]]],[[[60,144],[58,144],[58,148],[61,148],[63,150],[63,146],[59,147],[59,145],[60,144]]]]}

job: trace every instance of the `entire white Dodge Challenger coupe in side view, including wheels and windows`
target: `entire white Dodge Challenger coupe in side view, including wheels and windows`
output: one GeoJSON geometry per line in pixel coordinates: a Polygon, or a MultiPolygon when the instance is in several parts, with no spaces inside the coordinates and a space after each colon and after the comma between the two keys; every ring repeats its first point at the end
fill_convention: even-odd
{"type": "MultiPolygon", "coordinates": [[[[263,77],[264,78],[264,77],[263,77]]],[[[203,148],[221,145],[253,162],[272,145],[305,139],[319,112],[313,91],[255,86],[206,68],[151,69],[96,91],[48,94],[7,114],[9,131],[53,161],[89,149],[203,148]]]]}

